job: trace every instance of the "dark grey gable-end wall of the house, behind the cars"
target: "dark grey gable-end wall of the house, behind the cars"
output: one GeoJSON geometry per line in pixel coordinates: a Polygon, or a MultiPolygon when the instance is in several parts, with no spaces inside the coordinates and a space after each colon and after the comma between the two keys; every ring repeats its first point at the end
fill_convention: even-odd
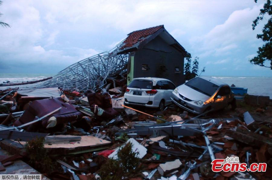
{"type": "Polygon", "coordinates": [[[177,86],[184,81],[183,67],[183,54],[168,45],[159,36],[135,52],[134,78],[162,77],[169,79],[177,86]],[[150,69],[143,71],[142,65],[148,65],[150,69]],[[180,69],[180,73],[175,73],[176,67],[180,69]]]}

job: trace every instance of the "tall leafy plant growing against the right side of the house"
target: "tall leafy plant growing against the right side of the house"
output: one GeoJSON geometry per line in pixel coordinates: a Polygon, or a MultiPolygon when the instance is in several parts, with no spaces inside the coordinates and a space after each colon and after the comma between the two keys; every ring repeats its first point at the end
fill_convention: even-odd
{"type": "Polygon", "coordinates": [[[199,57],[195,57],[194,61],[193,61],[193,67],[192,67],[192,72],[191,72],[191,62],[192,62],[192,56],[189,52],[187,52],[186,56],[185,56],[187,63],[184,65],[184,79],[186,80],[190,80],[193,79],[194,77],[197,76],[198,73],[198,60],[199,57]]]}

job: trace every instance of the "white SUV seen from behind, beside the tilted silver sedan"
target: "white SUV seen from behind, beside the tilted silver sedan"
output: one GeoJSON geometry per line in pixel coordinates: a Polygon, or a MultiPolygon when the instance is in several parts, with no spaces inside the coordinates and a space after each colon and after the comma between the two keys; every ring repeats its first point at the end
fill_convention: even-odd
{"type": "Polygon", "coordinates": [[[172,103],[170,96],[176,86],[167,79],[156,77],[134,78],[125,93],[125,104],[159,108],[172,103]]]}

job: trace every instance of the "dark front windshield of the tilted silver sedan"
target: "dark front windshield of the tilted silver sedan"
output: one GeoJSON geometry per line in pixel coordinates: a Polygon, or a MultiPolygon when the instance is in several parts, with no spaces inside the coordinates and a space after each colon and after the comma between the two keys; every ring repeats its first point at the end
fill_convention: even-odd
{"type": "Polygon", "coordinates": [[[196,77],[186,82],[185,85],[200,93],[206,94],[207,96],[212,96],[219,87],[218,85],[213,84],[200,77],[196,77]]]}

